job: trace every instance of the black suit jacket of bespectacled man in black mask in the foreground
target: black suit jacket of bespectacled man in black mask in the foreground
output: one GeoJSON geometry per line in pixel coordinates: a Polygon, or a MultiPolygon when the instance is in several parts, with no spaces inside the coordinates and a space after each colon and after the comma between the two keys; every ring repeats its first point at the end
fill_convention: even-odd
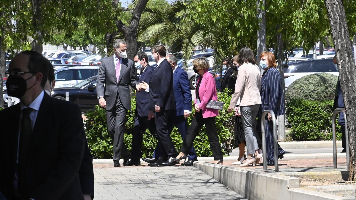
{"type": "MultiPolygon", "coordinates": [[[[0,191],[11,199],[17,158],[20,104],[0,111],[0,191]]],[[[83,199],[78,171],[85,144],[79,107],[46,93],[33,127],[23,199],[83,199]]],[[[20,161],[21,162],[21,161],[20,161]]]]}

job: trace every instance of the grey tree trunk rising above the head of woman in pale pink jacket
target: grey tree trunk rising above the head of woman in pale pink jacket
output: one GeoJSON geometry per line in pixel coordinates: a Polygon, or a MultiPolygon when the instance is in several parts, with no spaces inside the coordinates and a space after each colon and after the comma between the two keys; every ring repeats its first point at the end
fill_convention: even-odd
{"type": "Polygon", "coordinates": [[[259,27],[259,29],[257,30],[257,58],[259,58],[261,53],[266,51],[267,49],[266,15],[265,10],[262,10],[261,6],[265,7],[265,0],[257,0],[257,21],[259,27]]]}

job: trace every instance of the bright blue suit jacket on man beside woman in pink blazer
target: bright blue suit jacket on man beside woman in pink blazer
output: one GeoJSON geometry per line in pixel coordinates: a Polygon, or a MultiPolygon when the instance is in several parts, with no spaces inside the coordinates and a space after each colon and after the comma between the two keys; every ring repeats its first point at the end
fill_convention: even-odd
{"type": "Polygon", "coordinates": [[[188,74],[179,67],[173,73],[173,91],[177,116],[184,115],[184,110],[191,111],[192,93],[190,93],[188,74]]]}

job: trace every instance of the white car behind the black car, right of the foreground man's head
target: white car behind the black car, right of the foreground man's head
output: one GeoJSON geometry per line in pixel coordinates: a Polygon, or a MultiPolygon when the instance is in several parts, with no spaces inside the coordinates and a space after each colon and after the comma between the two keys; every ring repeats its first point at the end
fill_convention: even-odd
{"type": "Polygon", "coordinates": [[[71,87],[82,80],[98,75],[99,67],[78,66],[63,67],[54,72],[56,85],[54,88],[71,87]]]}

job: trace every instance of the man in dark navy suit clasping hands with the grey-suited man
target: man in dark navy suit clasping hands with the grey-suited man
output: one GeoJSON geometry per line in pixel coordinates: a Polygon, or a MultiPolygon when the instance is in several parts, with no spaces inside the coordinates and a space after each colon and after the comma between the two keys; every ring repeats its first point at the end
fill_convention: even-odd
{"type": "Polygon", "coordinates": [[[150,93],[148,100],[150,113],[148,115],[152,116],[154,113],[159,137],[157,145],[158,148],[163,150],[156,162],[148,164],[151,167],[171,166],[179,163],[172,159],[176,158],[178,152],[174,148],[168,130],[168,122],[176,113],[176,101],[173,93],[172,68],[166,59],[166,52],[166,48],[162,45],[156,45],[152,48],[152,59],[157,62],[157,67],[152,74],[148,88],[141,84],[142,88],[150,93]]]}

